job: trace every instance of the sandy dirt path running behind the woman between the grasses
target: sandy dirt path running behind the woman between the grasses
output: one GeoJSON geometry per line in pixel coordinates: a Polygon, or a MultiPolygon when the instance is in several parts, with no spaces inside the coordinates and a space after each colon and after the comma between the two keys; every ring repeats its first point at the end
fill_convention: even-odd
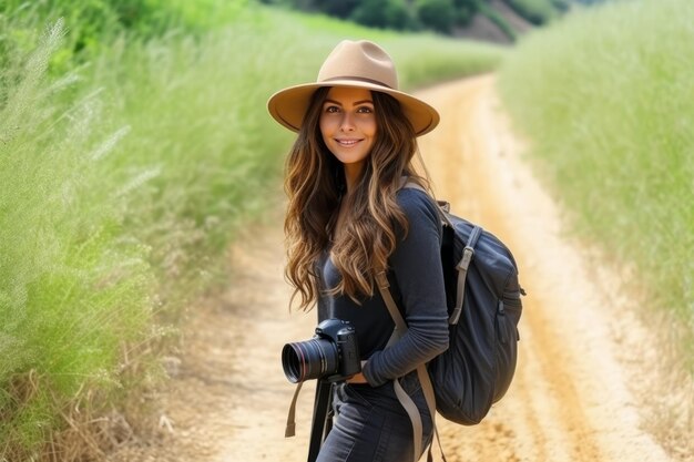
{"type": "MultiPolygon", "coordinates": [[[[640,430],[643,415],[627,386],[639,377],[633,368],[645,365],[623,366],[645,337],[629,315],[609,316],[605,307],[619,302],[603,287],[610,276],[595,277],[592,261],[562,239],[558,211],[521,164],[498,111],[493,79],[420,95],[442,115],[421,141],[437,195],[509,244],[529,294],[508,396],[474,428],[439,419],[448,460],[669,461],[640,430]]],[[[280,232],[273,226],[233,249],[232,288],[192,314],[175,379],[159,401],[159,430],[114,461],[306,459],[313,389],[298,404],[297,437],[285,440],[293,387],[279,351],[310,337],[315,314],[287,312],[280,232]]]]}

